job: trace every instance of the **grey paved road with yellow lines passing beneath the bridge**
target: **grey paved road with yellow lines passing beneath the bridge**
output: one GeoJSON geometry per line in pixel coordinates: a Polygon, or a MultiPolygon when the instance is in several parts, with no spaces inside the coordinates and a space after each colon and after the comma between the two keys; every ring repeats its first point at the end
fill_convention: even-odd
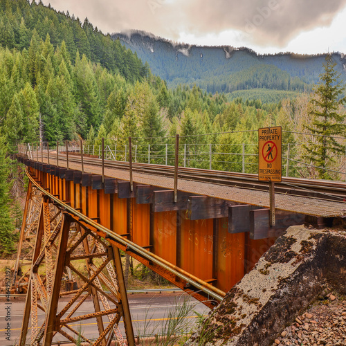
{"type": "MultiPolygon", "coordinates": [[[[80,314],[90,312],[93,308],[91,300],[86,302],[84,311],[80,311],[80,314]]],[[[170,313],[176,316],[173,311],[180,310],[179,307],[187,307],[188,313],[185,320],[185,326],[188,330],[192,329],[192,326],[196,320],[194,316],[198,313],[207,314],[209,309],[203,304],[197,302],[185,293],[174,294],[133,294],[129,295],[129,305],[131,309],[131,317],[134,325],[135,336],[161,334],[167,325],[168,317],[170,313]],[[186,302],[186,304],[183,304],[186,302]]],[[[25,306],[25,300],[22,298],[11,298],[10,302],[6,302],[6,299],[2,299],[0,302],[0,345],[12,346],[19,340],[19,334],[21,329],[21,322],[23,318],[23,311],[25,306]],[[6,321],[6,318],[10,318],[10,321],[6,321]],[[10,323],[10,331],[8,332],[6,327],[10,323]],[[6,335],[6,333],[8,333],[6,335]],[[6,337],[10,335],[10,340],[6,340],[6,337]]],[[[39,313],[39,322],[43,320],[44,315],[39,313]]],[[[104,322],[107,318],[104,318],[104,322]]],[[[42,323],[42,322],[41,322],[42,323]]],[[[120,330],[124,333],[123,323],[120,322],[120,330]]],[[[95,338],[98,334],[97,325],[95,319],[86,320],[75,323],[75,329],[82,330],[82,334],[87,338],[95,338]]],[[[30,330],[29,330],[30,333],[30,330]]],[[[59,339],[57,339],[59,340],[59,339]]],[[[60,338],[60,340],[65,340],[60,338]]]]}

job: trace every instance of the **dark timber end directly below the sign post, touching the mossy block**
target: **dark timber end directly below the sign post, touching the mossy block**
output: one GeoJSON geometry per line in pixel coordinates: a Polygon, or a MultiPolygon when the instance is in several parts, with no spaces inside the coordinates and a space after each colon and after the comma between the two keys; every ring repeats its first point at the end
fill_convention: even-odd
{"type": "Polygon", "coordinates": [[[305,215],[275,210],[275,226],[269,226],[269,209],[250,211],[250,238],[280,237],[290,226],[304,224],[305,215]]]}

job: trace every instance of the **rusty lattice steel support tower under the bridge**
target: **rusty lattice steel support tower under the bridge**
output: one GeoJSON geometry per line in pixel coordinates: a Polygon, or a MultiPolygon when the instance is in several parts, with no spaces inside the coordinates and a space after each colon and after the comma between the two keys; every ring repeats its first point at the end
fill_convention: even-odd
{"type": "MultiPolygon", "coordinates": [[[[31,196],[32,193],[27,197],[28,212],[31,196]]],[[[115,340],[116,345],[134,346],[118,248],[92,226],[59,208],[51,197],[41,197],[32,263],[26,275],[28,289],[19,345],[48,346],[67,341],[106,346],[115,340]],[[78,277],[73,287],[65,285],[71,274],[74,280],[78,277]],[[85,313],[90,311],[90,305],[86,307],[88,300],[93,302],[93,309],[85,313]],[[43,318],[39,311],[43,311],[43,318]],[[126,338],[119,328],[120,319],[125,325],[126,338]],[[76,330],[75,325],[86,320],[95,321],[98,329],[76,330]],[[92,343],[91,338],[95,339],[92,343]]],[[[29,214],[23,229],[27,228],[28,219],[29,214]]]]}

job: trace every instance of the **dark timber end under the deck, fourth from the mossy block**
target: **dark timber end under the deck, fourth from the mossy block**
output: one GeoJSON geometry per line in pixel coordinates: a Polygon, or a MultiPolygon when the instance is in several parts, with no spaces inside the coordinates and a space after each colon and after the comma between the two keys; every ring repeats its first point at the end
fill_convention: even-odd
{"type": "Polygon", "coordinates": [[[178,191],[178,201],[174,203],[174,190],[154,191],[154,212],[168,212],[170,210],[187,210],[189,198],[193,194],[178,191]]]}

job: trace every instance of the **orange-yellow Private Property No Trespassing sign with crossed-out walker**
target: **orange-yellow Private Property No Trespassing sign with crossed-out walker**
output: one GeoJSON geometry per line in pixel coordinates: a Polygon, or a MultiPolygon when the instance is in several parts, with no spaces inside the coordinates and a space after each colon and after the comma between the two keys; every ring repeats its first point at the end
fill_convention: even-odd
{"type": "Polygon", "coordinates": [[[281,181],[281,126],[258,130],[258,180],[281,181]]]}

